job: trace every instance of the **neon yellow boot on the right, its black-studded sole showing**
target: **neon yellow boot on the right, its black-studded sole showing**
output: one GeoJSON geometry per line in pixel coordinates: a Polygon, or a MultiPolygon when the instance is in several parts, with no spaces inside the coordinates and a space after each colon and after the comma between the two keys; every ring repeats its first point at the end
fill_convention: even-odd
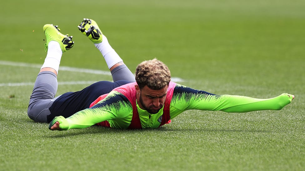
{"type": "Polygon", "coordinates": [[[94,20],[84,18],[82,23],[78,25],[78,29],[93,43],[101,43],[103,41],[102,31],[94,20]]]}

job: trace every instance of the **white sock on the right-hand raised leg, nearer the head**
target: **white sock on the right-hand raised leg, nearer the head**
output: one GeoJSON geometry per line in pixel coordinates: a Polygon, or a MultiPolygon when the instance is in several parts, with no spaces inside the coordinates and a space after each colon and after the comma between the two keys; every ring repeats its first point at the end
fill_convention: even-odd
{"type": "Polygon", "coordinates": [[[108,69],[119,62],[123,62],[117,52],[115,52],[115,50],[109,45],[106,36],[103,35],[103,41],[94,45],[102,53],[108,69]]]}

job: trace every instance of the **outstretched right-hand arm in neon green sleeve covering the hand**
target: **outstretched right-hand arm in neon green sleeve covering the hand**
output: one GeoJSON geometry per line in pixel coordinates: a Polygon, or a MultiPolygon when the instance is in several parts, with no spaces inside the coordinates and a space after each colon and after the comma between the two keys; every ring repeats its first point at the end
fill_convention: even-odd
{"type": "Polygon", "coordinates": [[[293,98],[293,95],[287,93],[267,99],[236,95],[215,95],[179,85],[177,89],[175,88],[172,104],[177,108],[185,110],[251,112],[280,110],[289,104],[293,98]]]}

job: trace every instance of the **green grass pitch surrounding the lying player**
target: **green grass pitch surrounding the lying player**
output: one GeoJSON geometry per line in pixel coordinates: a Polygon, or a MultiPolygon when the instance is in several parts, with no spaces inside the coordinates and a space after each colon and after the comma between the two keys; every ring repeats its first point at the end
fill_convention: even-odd
{"type": "MultiPolygon", "coordinates": [[[[156,0],[1,2],[0,170],[304,170],[305,2],[156,0]],[[73,36],[61,66],[107,71],[78,31],[92,18],[135,71],[158,58],[184,85],[257,98],[291,93],[281,111],[187,111],[153,130],[50,131],[27,117],[44,24],[73,36]]],[[[58,93],[109,75],[59,68],[58,93]]]]}

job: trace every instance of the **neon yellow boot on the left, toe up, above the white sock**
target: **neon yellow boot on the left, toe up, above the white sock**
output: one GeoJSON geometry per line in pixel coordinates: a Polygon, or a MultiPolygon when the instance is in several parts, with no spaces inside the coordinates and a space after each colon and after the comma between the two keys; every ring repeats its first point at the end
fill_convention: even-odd
{"type": "Polygon", "coordinates": [[[63,52],[66,52],[67,50],[73,47],[74,42],[72,41],[72,36],[63,35],[59,31],[60,29],[58,28],[58,26],[53,26],[53,24],[46,24],[43,26],[43,32],[46,35],[47,39],[47,43],[45,43],[44,45],[45,51],[47,51],[48,44],[52,40],[57,41],[59,43],[60,48],[63,52]]]}

